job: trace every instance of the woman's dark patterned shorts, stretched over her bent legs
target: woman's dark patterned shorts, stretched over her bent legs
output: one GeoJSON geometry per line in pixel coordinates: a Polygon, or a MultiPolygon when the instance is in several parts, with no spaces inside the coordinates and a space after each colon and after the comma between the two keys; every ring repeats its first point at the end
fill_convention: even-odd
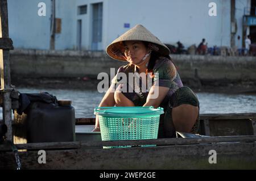
{"type": "MultiPolygon", "coordinates": [[[[143,106],[146,103],[145,97],[140,96],[135,92],[123,92],[128,99],[130,99],[135,106],[143,106]]],[[[189,87],[180,87],[172,94],[170,100],[166,105],[160,105],[164,108],[164,114],[160,116],[158,138],[176,137],[174,123],[172,121],[172,108],[180,106],[181,104],[190,104],[199,107],[199,100],[196,94],[189,87]]],[[[199,130],[199,115],[197,116],[196,123],[193,125],[191,133],[197,133],[199,130]]]]}

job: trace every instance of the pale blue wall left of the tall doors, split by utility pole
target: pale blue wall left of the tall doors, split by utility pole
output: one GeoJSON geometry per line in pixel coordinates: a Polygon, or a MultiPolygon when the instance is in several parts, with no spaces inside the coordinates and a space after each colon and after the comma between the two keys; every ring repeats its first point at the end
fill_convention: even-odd
{"type": "MultiPolygon", "coordinates": [[[[55,35],[55,49],[74,49],[76,43],[75,6],[72,1],[56,0],[55,18],[61,19],[61,33],[55,35]],[[67,8],[68,7],[68,8],[67,8]]],[[[49,49],[51,0],[9,0],[9,36],[14,48],[49,49]],[[46,3],[46,16],[39,16],[39,2],[46,3]]]]}

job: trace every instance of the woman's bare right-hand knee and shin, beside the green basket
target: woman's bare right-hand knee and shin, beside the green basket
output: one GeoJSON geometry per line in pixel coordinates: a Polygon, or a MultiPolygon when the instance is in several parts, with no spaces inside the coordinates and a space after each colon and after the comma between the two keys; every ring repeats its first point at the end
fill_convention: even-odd
{"type": "Polygon", "coordinates": [[[190,104],[181,104],[172,108],[172,121],[177,132],[191,132],[196,123],[199,108],[190,104]]]}

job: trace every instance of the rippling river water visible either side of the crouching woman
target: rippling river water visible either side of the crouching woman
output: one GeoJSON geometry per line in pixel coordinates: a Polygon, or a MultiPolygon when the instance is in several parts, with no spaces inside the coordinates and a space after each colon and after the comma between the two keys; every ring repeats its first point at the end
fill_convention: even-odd
{"type": "MultiPolygon", "coordinates": [[[[48,92],[58,100],[72,100],[76,117],[95,117],[93,110],[100,104],[104,93],[92,90],[18,89],[21,93],[48,92]]],[[[200,113],[256,112],[256,94],[196,93],[200,101],[200,113]]],[[[2,112],[2,110],[1,110],[2,112]]],[[[2,113],[0,114],[2,117],[2,113]]]]}

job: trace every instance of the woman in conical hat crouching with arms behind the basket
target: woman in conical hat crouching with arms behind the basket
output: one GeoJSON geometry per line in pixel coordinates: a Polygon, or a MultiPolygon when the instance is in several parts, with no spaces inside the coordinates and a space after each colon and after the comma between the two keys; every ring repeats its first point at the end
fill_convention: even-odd
{"type": "MultiPolygon", "coordinates": [[[[114,40],[106,52],[115,60],[128,64],[118,69],[99,107],[163,107],[159,138],[175,137],[175,131],[197,132],[199,100],[189,87],[183,86],[169,56],[170,50],[156,36],[137,25],[114,40]],[[130,77],[129,73],[134,76],[130,77]],[[128,79],[121,79],[121,74],[128,79]],[[134,82],[134,77],[139,81],[134,82]]],[[[100,131],[98,116],[93,131],[100,131]]]]}

